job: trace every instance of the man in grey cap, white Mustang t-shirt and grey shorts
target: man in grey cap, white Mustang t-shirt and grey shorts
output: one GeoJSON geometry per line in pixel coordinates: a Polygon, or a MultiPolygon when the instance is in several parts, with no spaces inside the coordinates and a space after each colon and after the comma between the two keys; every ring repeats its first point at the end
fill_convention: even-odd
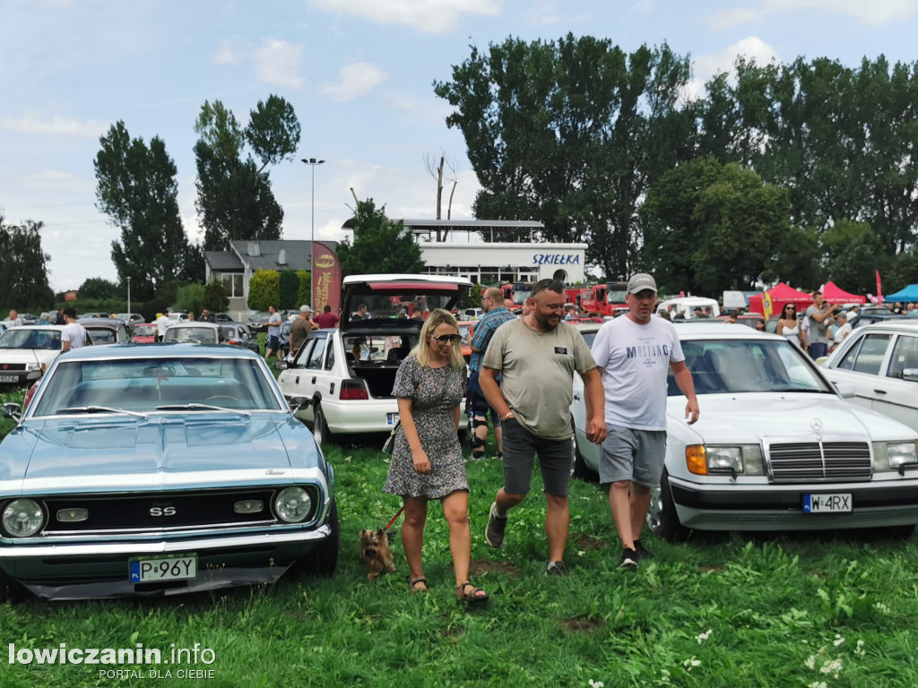
{"type": "Polygon", "coordinates": [[[650,492],[659,485],[666,458],[666,373],[689,399],[689,424],[698,420],[698,398],[676,327],[656,308],[656,281],[644,272],[628,281],[628,313],[599,328],[593,359],[604,370],[606,427],[599,482],[611,483],[609,506],[621,538],[619,566],[652,558],[641,543],[650,492]]]}

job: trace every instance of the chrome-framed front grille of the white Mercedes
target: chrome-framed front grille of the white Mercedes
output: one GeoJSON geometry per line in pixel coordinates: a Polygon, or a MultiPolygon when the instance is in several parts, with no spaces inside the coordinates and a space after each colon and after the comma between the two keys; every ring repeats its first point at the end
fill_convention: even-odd
{"type": "Polygon", "coordinates": [[[872,475],[867,442],[788,442],[766,446],[772,483],[868,481],[872,475]]]}

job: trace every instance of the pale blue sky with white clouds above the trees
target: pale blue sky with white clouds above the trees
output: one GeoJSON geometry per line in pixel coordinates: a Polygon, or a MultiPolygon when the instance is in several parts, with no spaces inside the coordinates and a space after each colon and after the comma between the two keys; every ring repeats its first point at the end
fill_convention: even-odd
{"type": "Polygon", "coordinates": [[[453,217],[478,189],[450,107],[431,84],[469,45],[568,32],[625,50],[666,41],[694,61],[696,88],[737,54],[758,61],[864,57],[916,61],[918,0],[0,0],[0,214],[44,222],[55,291],[117,280],[118,229],[95,207],[98,138],[119,119],[159,136],[178,167],[189,238],[195,211],[194,123],[220,100],[242,123],[270,94],[296,109],[296,162],[271,170],[285,239],[341,239],[351,189],[390,217],[434,217],[425,161],[445,153],[459,183],[453,217]],[[299,158],[326,161],[314,170],[299,158]]]}

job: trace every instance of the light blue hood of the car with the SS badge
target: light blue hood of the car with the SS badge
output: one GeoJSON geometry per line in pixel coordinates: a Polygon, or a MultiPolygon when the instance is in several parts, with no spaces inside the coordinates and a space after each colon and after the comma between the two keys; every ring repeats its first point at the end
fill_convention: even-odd
{"type": "Polygon", "coordinates": [[[320,461],[287,414],[36,420],[0,444],[0,494],[277,484],[320,461]]]}

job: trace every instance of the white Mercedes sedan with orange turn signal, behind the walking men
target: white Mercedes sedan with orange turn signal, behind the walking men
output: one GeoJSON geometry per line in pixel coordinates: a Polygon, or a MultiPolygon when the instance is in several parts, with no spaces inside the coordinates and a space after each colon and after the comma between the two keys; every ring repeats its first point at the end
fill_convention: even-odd
{"type": "MultiPolygon", "coordinates": [[[[601,326],[581,326],[591,343],[601,326]]],[[[847,401],[777,335],[724,324],[677,325],[701,416],[668,380],[666,468],[647,520],[671,541],[700,530],[883,527],[918,523],[918,433],[847,401]]],[[[582,384],[575,383],[575,472],[596,472],[582,384]]]]}

